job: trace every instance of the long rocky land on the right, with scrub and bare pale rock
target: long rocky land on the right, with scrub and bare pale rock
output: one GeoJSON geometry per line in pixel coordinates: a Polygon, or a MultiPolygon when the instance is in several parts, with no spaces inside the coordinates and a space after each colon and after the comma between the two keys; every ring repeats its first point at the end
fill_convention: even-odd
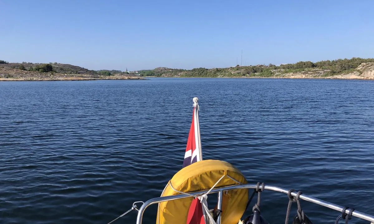
{"type": "Polygon", "coordinates": [[[324,60],[282,65],[251,65],[230,68],[194,68],[191,70],[155,68],[138,73],[152,77],[217,77],[217,78],[327,78],[374,80],[374,59],[324,60]]]}

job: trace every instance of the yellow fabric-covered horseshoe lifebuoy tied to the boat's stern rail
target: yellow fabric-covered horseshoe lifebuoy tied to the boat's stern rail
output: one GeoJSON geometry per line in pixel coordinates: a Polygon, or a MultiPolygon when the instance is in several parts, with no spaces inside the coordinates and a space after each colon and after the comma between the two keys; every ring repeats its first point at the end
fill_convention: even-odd
{"type": "MultiPolygon", "coordinates": [[[[175,190],[181,192],[208,190],[223,175],[226,175],[226,177],[224,177],[216,187],[237,184],[235,181],[227,177],[227,175],[243,184],[247,183],[247,180],[239,169],[228,162],[219,160],[203,160],[184,167],[174,175],[169,183],[172,184],[175,190]]],[[[180,194],[175,192],[170,187],[169,183],[162,196],[180,194]]],[[[192,200],[193,197],[187,197],[184,199],[161,202],[160,208],[157,211],[157,220],[160,218],[160,224],[186,224],[188,209],[190,208],[192,200]]],[[[224,193],[221,223],[237,224],[245,212],[247,202],[248,189],[230,190],[227,194],[224,193]]]]}

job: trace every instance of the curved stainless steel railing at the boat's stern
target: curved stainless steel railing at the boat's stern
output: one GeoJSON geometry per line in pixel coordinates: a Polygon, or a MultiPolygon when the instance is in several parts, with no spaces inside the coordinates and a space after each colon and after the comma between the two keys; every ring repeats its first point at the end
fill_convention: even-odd
{"type": "MultiPolygon", "coordinates": [[[[224,191],[234,190],[234,189],[255,189],[256,186],[257,186],[256,184],[238,184],[238,185],[232,185],[232,186],[227,186],[227,187],[220,187],[220,188],[215,188],[215,189],[211,190],[210,194],[218,193],[218,206],[217,207],[222,208],[221,207],[222,206],[221,197],[222,197],[222,193],[224,191]]],[[[270,186],[270,185],[265,185],[264,189],[265,190],[272,190],[272,191],[276,191],[276,192],[281,192],[281,193],[285,193],[285,194],[288,193],[287,189],[284,189],[284,188],[281,188],[281,187],[270,186]]],[[[199,196],[199,195],[203,195],[206,192],[208,192],[208,190],[199,191],[199,192],[188,192],[188,193],[190,193],[191,195],[199,196]]],[[[296,196],[297,192],[292,192],[291,195],[296,196]]],[[[142,218],[143,218],[144,211],[145,211],[145,209],[148,208],[148,206],[159,203],[159,202],[166,202],[166,201],[169,201],[169,200],[177,200],[177,199],[182,199],[182,198],[186,198],[186,197],[191,197],[191,196],[188,196],[188,195],[172,195],[172,196],[165,196],[165,197],[156,197],[156,198],[147,200],[140,207],[140,209],[138,211],[137,224],[142,223],[142,218]]],[[[341,212],[343,210],[342,206],[335,205],[335,204],[329,203],[329,202],[325,202],[324,200],[320,200],[320,199],[317,199],[315,197],[310,197],[310,196],[307,196],[307,195],[304,195],[304,194],[300,195],[300,199],[306,200],[308,202],[312,202],[312,203],[315,203],[317,205],[321,205],[321,206],[324,206],[324,207],[327,207],[327,208],[331,208],[331,209],[334,209],[336,211],[341,212]]],[[[346,214],[348,214],[349,211],[350,211],[350,209],[347,209],[346,214]]],[[[364,220],[371,221],[371,222],[374,223],[374,216],[372,216],[372,215],[367,215],[365,213],[358,212],[358,211],[355,210],[355,211],[353,211],[352,216],[362,218],[364,220]]],[[[221,224],[221,216],[218,217],[217,224],[221,224]]]]}

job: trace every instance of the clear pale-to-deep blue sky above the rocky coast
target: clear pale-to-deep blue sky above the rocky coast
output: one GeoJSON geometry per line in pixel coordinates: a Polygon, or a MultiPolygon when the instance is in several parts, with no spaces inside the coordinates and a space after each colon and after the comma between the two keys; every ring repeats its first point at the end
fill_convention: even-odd
{"type": "Polygon", "coordinates": [[[373,0],[0,0],[0,60],[129,71],[374,57],[373,0]]]}

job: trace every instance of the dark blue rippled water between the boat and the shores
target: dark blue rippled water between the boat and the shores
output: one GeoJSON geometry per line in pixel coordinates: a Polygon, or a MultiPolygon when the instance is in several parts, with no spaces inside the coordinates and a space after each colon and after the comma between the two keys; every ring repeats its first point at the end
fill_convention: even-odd
{"type": "MultiPolygon", "coordinates": [[[[204,159],[374,214],[373,81],[157,78],[0,82],[0,223],[105,224],[159,196],[182,167],[195,96],[204,159]]],[[[287,196],[261,198],[284,222],[287,196]]],[[[301,206],[314,223],[339,215],[301,206]]]]}

